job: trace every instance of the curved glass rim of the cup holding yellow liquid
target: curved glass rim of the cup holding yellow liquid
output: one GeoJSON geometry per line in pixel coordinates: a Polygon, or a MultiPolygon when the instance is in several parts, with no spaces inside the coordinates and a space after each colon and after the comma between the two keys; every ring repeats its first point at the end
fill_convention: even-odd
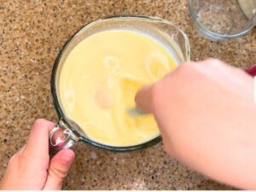
{"type": "MultiPolygon", "coordinates": [[[[51,73],[51,81],[50,81],[50,88],[51,88],[51,95],[53,97],[53,103],[55,106],[55,111],[58,115],[58,121],[62,121],[65,125],[67,125],[67,128],[70,129],[71,131],[73,131],[73,133],[79,137],[79,141],[83,142],[83,143],[88,143],[91,146],[94,146],[96,148],[102,148],[102,149],[106,149],[106,150],[110,150],[110,151],[115,151],[115,152],[129,152],[129,151],[133,151],[133,150],[137,150],[137,149],[144,149],[144,148],[149,148],[151,146],[153,146],[156,143],[160,143],[161,136],[157,136],[154,137],[150,140],[148,140],[145,143],[139,143],[137,145],[131,145],[131,146],[111,146],[111,145],[107,145],[107,144],[103,144],[103,143],[98,143],[92,139],[90,139],[89,137],[85,137],[82,134],[79,133],[79,131],[77,131],[73,125],[70,124],[70,120],[67,119],[67,115],[64,113],[64,111],[61,108],[61,104],[59,102],[58,96],[57,96],[57,92],[56,92],[56,87],[55,87],[55,78],[56,78],[56,73],[59,67],[59,63],[61,61],[61,56],[63,55],[63,53],[65,52],[68,44],[73,40],[73,38],[76,38],[76,35],[84,29],[84,27],[90,27],[90,25],[95,24],[99,21],[102,20],[109,20],[109,19],[119,19],[119,18],[135,18],[135,19],[139,19],[139,20],[154,20],[154,21],[159,21],[162,23],[166,23],[168,25],[174,26],[179,32],[181,32],[183,34],[183,37],[185,38],[186,41],[186,47],[187,49],[190,50],[189,48],[189,40],[186,36],[186,34],[180,30],[177,26],[173,25],[171,22],[164,20],[164,19],[160,19],[158,17],[152,17],[152,16],[146,16],[146,15],[108,15],[105,17],[102,17],[100,19],[97,20],[93,20],[87,24],[85,24],[84,26],[82,26],[81,28],[79,28],[79,30],[77,32],[74,32],[73,35],[67,39],[66,43],[62,45],[60,51],[58,52],[58,55],[56,55],[55,58],[55,62],[54,62],[54,66],[52,68],[52,73],[51,73]]],[[[190,53],[190,51],[189,51],[190,53]]],[[[190,55],[185,55],[186,57],[190,58],[190,55]]]]}

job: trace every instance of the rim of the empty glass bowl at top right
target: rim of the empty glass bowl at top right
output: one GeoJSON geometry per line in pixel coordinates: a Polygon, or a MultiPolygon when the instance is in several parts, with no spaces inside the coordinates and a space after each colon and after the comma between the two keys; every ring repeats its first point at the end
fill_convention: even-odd
{"type": "MultiPolygon", "coordinates": [[[[237,32],[235,34],[220,34],[220,33],[217,33],[217,32],[212,32],[211,30],[209,30],[206,27],[204,27],[203,25],[201,25],[201,22],[196,21],[195,11],[194,11],[193,5],[192,5],[193,1],[194,0],[188,0],[189,14],[192,17],[192,21],[195,24],[195,26],[198,28],[198,30],[200,32],[202,32],[203,34],[207,35],[208,38],[212,38],[213,40],[223,40],[223,39],[227,39],[227,38],[238,38],[238,37],[240,37],[242,35],[245,35],[248,32],[250,32],[253,29],[253,27],[255,26],[255,25],[251,25],[246,30],[241,31],[241,32],[237,32]]],[[[252,20],[256,20],[256,14],[253,15],[252,20]]]]}

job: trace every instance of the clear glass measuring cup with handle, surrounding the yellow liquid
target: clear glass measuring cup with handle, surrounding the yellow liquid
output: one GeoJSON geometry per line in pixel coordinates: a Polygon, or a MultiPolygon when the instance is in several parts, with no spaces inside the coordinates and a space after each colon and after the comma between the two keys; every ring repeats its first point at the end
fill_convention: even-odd
{"type": "MultiPolygon", "coordinates": [[[[61,67],[63,66],[67,55],[71,50],[79,44],[84,38],[90,35],[109,29],[136,29],[146,34],[153,35],[159,39],[163,44],[173,50],[177,64],[190,60],[189,40],[185,33],[174,26],[167,20],[160,18],[141,16],[141,15],[112,15],[99,20],[90,22],[83,26],[78,32],[75,32],[69,38],[66,44],[63,45],[60,53],[55,59],[55,64],[51,75],[51,92],[54,100],[55,110],[58,114],[59,121],[57,125],[49,133],[49,147],[51,152],[55,153],[61,148],[70,148],[76,142],[88,143],[97,148],[108,149],[112,151],[131,151],[136,149],[148,148],[149,146],[159,143],[160,135],[154,137],[152,140],[133,145],[133,146],[108,146],[104,143],[98,143],[86,136],[86,133],[77,125],[73,119],[65,114],[61,106],[59,97],[59,78],[61,74],[61,67]]],[[[75,66],[74,66],[75,67],[75,66]]]]}

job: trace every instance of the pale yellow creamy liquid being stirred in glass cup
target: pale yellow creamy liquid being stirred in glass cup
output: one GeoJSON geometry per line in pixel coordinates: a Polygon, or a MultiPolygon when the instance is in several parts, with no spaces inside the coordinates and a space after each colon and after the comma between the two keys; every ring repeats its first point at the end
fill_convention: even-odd
{"type": "Polygon", "coordinates": [[[67,55],[59,80],[61,105],[90,139],[132,146],[159,135],[151,114],[133,117],[134,97],[177,67],[170,52],[140,32],[97,32],[67,55]]]}

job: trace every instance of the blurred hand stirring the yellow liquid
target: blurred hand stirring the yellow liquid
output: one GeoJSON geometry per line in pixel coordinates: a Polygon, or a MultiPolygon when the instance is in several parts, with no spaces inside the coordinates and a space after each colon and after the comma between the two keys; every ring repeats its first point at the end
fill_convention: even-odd
{"type": "Polygon", "coordinates": [[[139,90],[166,152],[208,177],[256,189],[253,78],[222,61],[188,62],[139,90]]]}

